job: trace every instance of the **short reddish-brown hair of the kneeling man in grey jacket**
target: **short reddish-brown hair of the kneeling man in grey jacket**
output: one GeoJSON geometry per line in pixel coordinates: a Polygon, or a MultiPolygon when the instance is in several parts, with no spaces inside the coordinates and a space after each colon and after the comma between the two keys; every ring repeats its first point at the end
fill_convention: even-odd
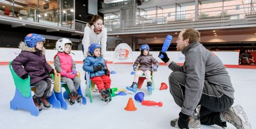
{"type": "Polygon", "coordinates": [[[194,28],[183,29],[184,33],[182,34],[183,40],[189,39],[189,43],[200,42],[200,32],[194,28]]]}

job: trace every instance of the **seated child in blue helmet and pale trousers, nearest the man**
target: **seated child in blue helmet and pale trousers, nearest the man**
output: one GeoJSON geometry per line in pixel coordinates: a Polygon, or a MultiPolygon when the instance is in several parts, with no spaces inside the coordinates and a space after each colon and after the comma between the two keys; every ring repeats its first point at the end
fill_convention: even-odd
{"type": "Polygon", "coordinates": [[[144,73],[147,79],[147,87],[148,87],[149,93],[151,94],[152,92],[151,71],[157,71],[159,63],[155,58],[153,58],[152,54],[149,54],[149,46],[147,44],[143,44],[140,46],[140,52],[141,52],[140,56],[135,60],[133,64],[133,70],[136,71],[138,64],[140,64],[140,67],[134,75],[134,80],[132,82],[132,85],[130,87],[127,86],[126,90],[135,94],[137,91],[137,82],[139,80],[139,77],[144,73]],[[154,64],[153,67],[152,67],[152,63],[154,64]]]}

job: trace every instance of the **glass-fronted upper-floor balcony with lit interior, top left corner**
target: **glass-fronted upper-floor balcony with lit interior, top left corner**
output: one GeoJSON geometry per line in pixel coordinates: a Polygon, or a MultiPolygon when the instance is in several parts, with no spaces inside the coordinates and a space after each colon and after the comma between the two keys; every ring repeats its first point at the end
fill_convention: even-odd
{"type": "Polygon", "coordinates": [[[0,0],[0,15],[74,29],[74,0],[0,0]]]}

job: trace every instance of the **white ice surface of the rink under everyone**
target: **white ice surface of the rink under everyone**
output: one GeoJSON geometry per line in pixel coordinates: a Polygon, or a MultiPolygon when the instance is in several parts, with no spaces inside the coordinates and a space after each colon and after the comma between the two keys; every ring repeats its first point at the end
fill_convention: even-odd
{"type": "MultiPolygon", "coordinates": [[[[112,64],[108,64],[112,70],[112,64]]],[[[77,71],[81,72],[81,88],[85,93],[86,83],[84,81],[84,71],[82,64],[76,64],[77,71]]],[[[115,75],[111,75],[111,87],[125,88],[130,86],[134,75],[131,75],[131,65],[115,65],[115,75]]],[[[178,107],[173,97],[167,90],[159,90],[161,82],[168,85],[168,76],[172,72],[167,66],[159,66],[155,72],[155,90],[152,95],[148,94],[144,82],[142,91],[145,94],[144,100],[163,102],[163,107],[143,106],[134,99],[134,95],[127,93],[126,96],[116,96],[108,105],[100,100],[99,93],[93,93],[93,103],[87,99],[86,105],[70,105],[67,110],[49,108],[43,109],[39,116],[32,116],[27,110],[10,109],[10,100],[15,93],[14,81],[8,66],[0,66],[0,128],[100,128],[100,129],[120,129],[120,128],[170,128],[170,120],[177,118],[181,108],[178,107]],[[137,110],[129,112],[124,110],[129,98],[137,110]]],[[[252,128],[256,127],[256,69],[227,69],[235,89],[234,105],[240,104],[251,123],[252,128]]],[[[204,126],[201,128],[221,128],[219,126],[204,126]]],[[[228,124],[227,128],[235,128],[228,124]]]]}

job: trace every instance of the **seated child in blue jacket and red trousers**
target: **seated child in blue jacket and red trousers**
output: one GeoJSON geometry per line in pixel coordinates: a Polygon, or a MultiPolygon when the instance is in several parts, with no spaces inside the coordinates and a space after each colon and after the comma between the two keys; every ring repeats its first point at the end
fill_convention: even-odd
{"type": "Polygon", "coordinates": [[[101,45],[92,43],[89,47],[88,57],[83,62],[83,70],[90,72],[90,79],[99,89],[103,100],[110,102],[110,84],[111,80],[109,70],[106,67],[104,59],[101,57],[101,45]]]}

